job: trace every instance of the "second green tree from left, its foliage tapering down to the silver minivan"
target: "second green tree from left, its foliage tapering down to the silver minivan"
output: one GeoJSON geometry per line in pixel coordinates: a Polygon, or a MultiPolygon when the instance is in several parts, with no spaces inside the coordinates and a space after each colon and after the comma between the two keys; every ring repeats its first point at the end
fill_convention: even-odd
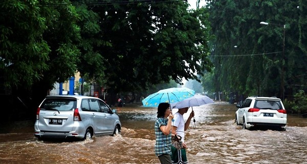
{"type": "Polygon", "coordinates": [[[51,51],[46,62],[48,70],[41,72],[42,78],[33,84],[30,91],[35,100],[33,106],[39,105],[55,82],[63,83],[77,70],[80,60],[77,45],[81,39],[77,25],[79,17],[76,8],[69,4],[69,1],[42,1],[39,4],[39,14],[46,19],[48,27],[43,31],[42,39],[51,51]]]}

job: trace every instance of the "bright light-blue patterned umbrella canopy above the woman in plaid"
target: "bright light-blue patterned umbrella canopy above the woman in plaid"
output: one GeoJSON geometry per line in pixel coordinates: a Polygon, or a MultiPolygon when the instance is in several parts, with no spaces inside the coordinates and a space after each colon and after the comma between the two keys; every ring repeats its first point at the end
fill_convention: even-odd
{"type": "Polygon", "coordinates": [[[152,93],[142,100],[144,107],[158,107],[160,103],[176,103],[192,97],[195,91],[186,87],[168,88],[152,93]]]}

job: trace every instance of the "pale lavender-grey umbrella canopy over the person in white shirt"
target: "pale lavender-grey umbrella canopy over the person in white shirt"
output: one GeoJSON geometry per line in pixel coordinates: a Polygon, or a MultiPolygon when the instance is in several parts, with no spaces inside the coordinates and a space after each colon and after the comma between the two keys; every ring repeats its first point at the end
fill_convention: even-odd
{"type": "Polygon", "coordinates": [[[178,103],[172,103],[171,107],[176,109],[186,108],[186,107],[198,107],[205,104],[212,104],[214,101],[208,96],[194,95],[192,97],[186,98],[178,103]]]}

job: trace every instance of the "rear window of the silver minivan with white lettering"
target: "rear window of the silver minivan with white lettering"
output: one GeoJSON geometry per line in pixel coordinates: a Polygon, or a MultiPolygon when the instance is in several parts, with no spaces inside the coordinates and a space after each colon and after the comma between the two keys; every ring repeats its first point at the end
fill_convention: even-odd
{"type": "Polygon", "coordinates": [[[40,106],[41,110],[72,111],[77,107],[76,99],[48,98],[40,106]]]}

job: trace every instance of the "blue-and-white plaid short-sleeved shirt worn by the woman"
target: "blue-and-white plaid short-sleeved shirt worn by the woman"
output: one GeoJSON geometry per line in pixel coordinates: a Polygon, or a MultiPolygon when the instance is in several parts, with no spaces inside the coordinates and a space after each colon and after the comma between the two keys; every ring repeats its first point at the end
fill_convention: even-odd
{"type": "Polygon", "coordinates": [[[156,133],[156,145],[155,152],[156,156],[162,154],[171,154],[171,133],[164,135],[161,131],[161,126],[167,125],[168,118],[158,118],[155,123],[155,133],[156,133]]]}

